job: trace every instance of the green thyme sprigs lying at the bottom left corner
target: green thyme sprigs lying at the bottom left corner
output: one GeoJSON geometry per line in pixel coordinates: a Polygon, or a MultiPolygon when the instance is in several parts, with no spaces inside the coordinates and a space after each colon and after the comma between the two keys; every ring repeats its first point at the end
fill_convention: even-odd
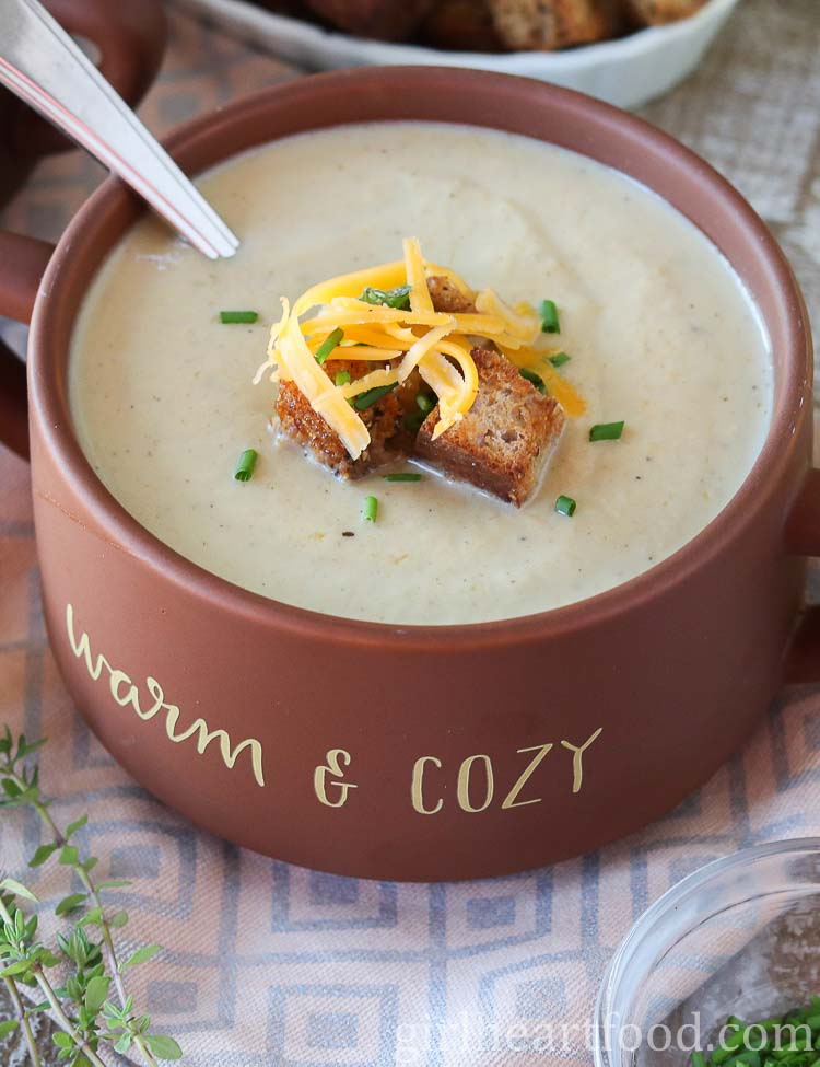
{"type": "Polygon", "coordinates": [[[148,944],[120,961],[114,943],[114,930],[128,923],[128,914],[119,911],[108,914],[101,898],[105,890],[120,889],[130,883],[122,880],[95,883],[92,870],[97,865],[94,856],[83,857],[72,837],[89,821],[82,815],[61,831],[39,787],[39,765],[32,755],[45,743],[30,743],[25,737],[15,742],[7,726],[0,734],[0,808],[33,808],[45,826],[49,840],[39,845],[30,867],[39,867],[57,856],[58,862],[68,867],[79,878],[82,893],[65,896],[55,912],[58,916],[78,916],[78,921],[67,933],[57,935],[58,953],[36,940],[37,916],[26,918],[19,900],[36,903],[35,895],[13,879],[0,881],[0,977],[17,1011],[17,1019],[0,1030],[0,1039],[19,1025],[25,1036],[33,1067],[42,1067],[28,1018],[34,1011],[50,1011],[61,1028],[54,1035],[59,1047],[59,1058],[68,1060],[67,1067],[105,1067],[97,1055],[101,1043],[110,1045],[117,1053],[131,1048],[139,1051],[148,1067],[159,1067],[157,1059],[179,1059],[181,1049],[173,1037],[150,1032],[151,1018],[139,1014],[133,997],[127,994],[122,973],[128,967],[147,963],[159,951],[159,944],[148,944]],[[97,943],[89,930],[99,931],[97,943]],[[67,977],[55,989],[46,972],[65,965],[67,977]],[[45,1000],[34,1007],[24,1007],[19,985],[38,986],[45,1000]],[[116,1002],[109,999],[112,989],[116,1002]]]}

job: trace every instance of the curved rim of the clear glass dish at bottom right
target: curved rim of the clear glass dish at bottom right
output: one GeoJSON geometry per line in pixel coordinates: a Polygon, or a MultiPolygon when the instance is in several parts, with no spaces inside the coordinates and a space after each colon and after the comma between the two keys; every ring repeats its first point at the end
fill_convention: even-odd
{"type": "MultiPolygon", "coordinates": [[[[670,912],[677,911],[688,897],[726,871],[737,868],[748,869],[759,860],[769,859],[771,856],[804,854],[820,855],[820,837],[786,837],[764,842],[762,845],[740,848],[735,853],[729,853],[728,856],[713,859],[687,874],[686,878],[666,890],[654,904],[651,904],[642,913],[616,949],[604,972],[604,978],[598,989],[593,1024],[593,1053],[596,1067],[613,1067],[608,1042],[609,1022],[613,1016],[609,1010],[609,1004],[618,989],[623,970],[629,965],[639,947],[652,936],[658,923],[670,912]]],[[[820,890],[820,878],[818,878],[817,888],[820,890]]]]}

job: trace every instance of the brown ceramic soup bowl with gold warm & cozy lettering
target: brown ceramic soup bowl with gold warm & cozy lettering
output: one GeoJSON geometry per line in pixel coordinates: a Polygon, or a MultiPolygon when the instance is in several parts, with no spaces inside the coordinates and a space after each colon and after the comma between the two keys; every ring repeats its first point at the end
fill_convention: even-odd
{"type": "Polygon", "coordinates": [[[0,292],[0,311],[34,305],[28,418],[46,617],[92,729],[199,825],[344,874],[501,874],[668,811],[743,742],[783,684],[805,557],[820,552],[809,327],[783,254],[735,189],[643,121],[561,89],[461,70],[332,73],[189,124],[169,146],[197,173],[289,134],[368,119],[554,142],[633,176],[699,225],[752,292],[776,361],[771,431],[746,482],[664,563],[524,618],[349,622],[235,588],[131,519],[72,430],[78,309],[141,210],[109,181],[48,266],[34,248],[0,292]]]}

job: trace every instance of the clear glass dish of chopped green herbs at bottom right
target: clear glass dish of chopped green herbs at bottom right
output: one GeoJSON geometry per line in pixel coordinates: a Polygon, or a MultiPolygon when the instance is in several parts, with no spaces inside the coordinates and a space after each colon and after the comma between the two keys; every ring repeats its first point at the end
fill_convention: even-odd
{"type": "Polygon", "coordinates": [[[730,1014],[782,1014],[820,994],[820,838],[736,853],[639,919],[604,977],[596,1067],[683,1067],[730,1014]]]}

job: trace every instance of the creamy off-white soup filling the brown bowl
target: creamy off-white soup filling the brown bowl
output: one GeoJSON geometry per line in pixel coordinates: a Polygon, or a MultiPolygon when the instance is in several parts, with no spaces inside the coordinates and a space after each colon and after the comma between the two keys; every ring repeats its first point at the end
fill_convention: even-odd
{"type": "Polygon", "coordinates": [[[612,170],[494,131],[378,124],[278,141],[199,185],[242,247],[211,263],[140,221],[82,309],[71,405],[126,510],[237,585],[394,624],[546,611],[673,553],[761,449],[773,372],[749,295],[700,231],[612,170]],[[560,308],[561,373],[587,411],[520,510],[435,476],[340,482],[270,432],[274,386],[251,380],[280,294],[400,258],[406,235],[476,288],[560,308]],[[222,325],[223,309],[259,322],[222,325]],[[593,424],[621,419],[621,440],[589,442],[593,424]]]}

